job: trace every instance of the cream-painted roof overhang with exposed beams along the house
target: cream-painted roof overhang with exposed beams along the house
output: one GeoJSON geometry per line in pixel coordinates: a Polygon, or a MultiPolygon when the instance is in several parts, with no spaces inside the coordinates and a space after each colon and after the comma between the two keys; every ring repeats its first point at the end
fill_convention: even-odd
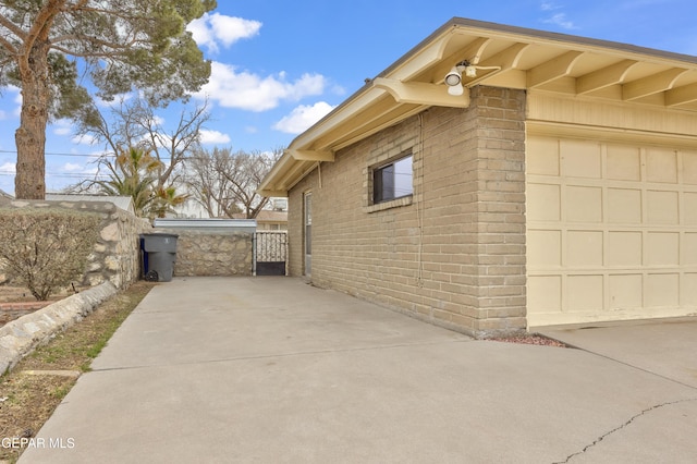
{"type": "Polygon", "coordinates": [[[697,111],[697,57],[626,44],[453,19],[296,137],[261,184],[288,192],[317,162],[432,106],[468,106],[475,85],[697,111]],[[467,60],[463,96],[445,74],[467,60]]]}

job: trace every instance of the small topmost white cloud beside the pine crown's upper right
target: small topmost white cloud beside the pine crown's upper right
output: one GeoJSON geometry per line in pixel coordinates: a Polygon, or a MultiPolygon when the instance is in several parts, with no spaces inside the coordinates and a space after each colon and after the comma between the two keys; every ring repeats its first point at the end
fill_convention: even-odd
{"type": "Polygon", "coordinates": [[[198,46],[205,46],[210,52],[217,52],[219,45],[228,48],[237,40],[259,34],[261,23],[220,13],[206,13],[192,21],[186,29],[192,33],[198,46]]]}

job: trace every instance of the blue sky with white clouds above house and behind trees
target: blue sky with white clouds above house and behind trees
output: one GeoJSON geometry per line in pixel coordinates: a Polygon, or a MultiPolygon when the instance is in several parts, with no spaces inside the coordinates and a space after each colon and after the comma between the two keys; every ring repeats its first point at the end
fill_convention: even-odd
{"type": "MultiPolygon", "coordinates": [[[[444,2],[415,0],[225,1],[189,25],[213,62],[205,147],[271,150],[360,88],[453,16],[697,54],[694,0],[444,2]]],[[[0,188],[13,193],[17,89],[0,96],[0,188]]],[[[158,112],[175,122],[182,108],[158,112]]],[[[47,130],[47,190],[90,178],[103,147],[47,130]],[[68,156],[70,155],[70,156],[68,156]]]]}

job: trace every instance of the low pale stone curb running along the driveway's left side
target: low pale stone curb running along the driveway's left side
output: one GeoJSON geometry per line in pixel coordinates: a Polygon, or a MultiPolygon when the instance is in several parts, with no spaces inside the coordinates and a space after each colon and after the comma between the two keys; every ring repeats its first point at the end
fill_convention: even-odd
{"type": "Polygon", "coordinates": [[[118,289],[105,282],[22,316],[0,328],[0,374],[11,370],[37,345],[82,320],[118,289]]]}

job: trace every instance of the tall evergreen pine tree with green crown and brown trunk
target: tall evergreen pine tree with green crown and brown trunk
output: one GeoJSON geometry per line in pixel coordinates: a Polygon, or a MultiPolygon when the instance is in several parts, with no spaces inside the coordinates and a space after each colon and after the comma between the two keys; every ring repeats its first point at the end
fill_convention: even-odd
{"type": "Polygon", "coordinates": [[[210,62],[185,26],[215,8],[215,0],[3,0],[0,89],[22,88],[15,196],[45,197],[51,118],[96,118],[78,77],[102,99],[137,89],[152,106],[199,89],[210,62]]]}

